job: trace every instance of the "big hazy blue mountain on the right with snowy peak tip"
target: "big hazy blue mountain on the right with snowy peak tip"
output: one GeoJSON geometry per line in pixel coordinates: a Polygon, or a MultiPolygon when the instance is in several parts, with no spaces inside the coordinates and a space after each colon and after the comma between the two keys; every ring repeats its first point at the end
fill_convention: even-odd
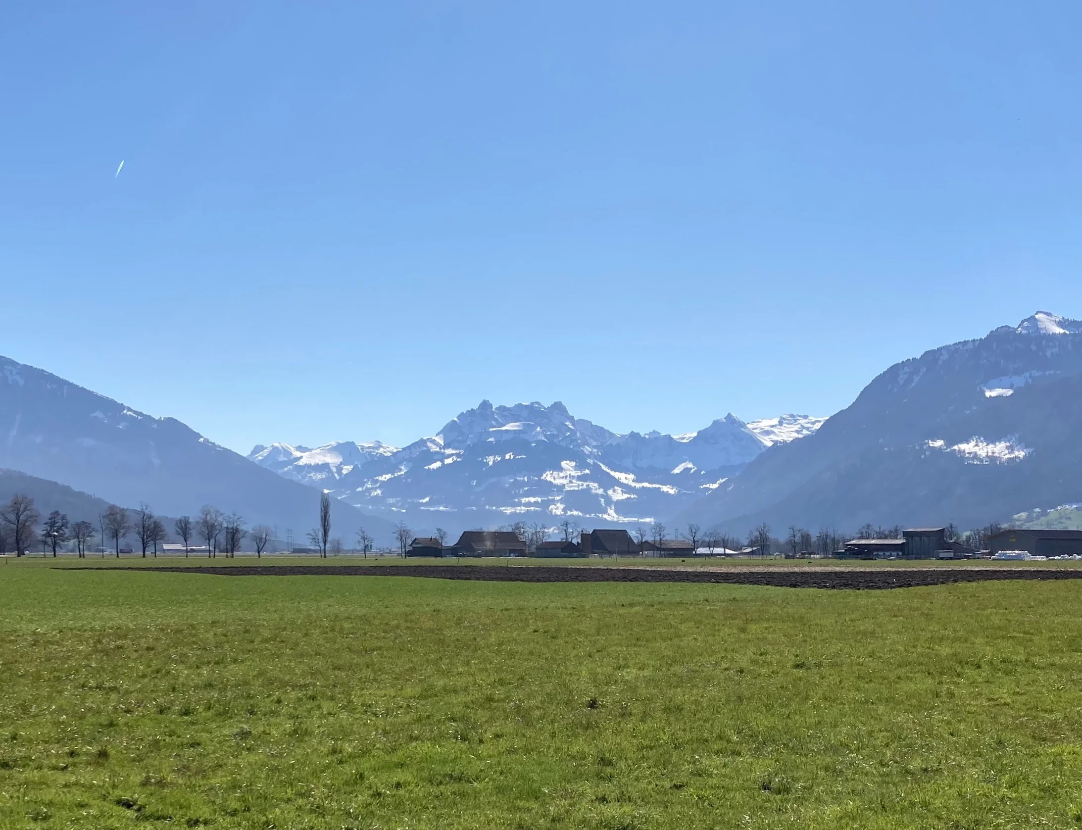
{"type": "Polygon", "coordinates": [[[681,521],[857,527],[1004,518],[1082,498],[1082,322],[1038,312],[876,377],[681,521]]]}

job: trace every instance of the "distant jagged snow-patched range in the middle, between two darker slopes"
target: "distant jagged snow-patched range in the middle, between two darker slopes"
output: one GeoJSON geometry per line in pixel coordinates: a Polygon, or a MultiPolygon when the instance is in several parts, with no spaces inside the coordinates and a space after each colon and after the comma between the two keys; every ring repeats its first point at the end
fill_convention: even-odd
{"type": "Polygon", "coordinates": [[[248,458],[330,490],[367,513],[449,531],[517,521],[583,525],[664,521],[737,475],[767,447],[824,419],[733,414],[683,435],[617,434],[559,401],[483,400],[407,447],[340,442],[309,449],[259,445],[248,458]]]}

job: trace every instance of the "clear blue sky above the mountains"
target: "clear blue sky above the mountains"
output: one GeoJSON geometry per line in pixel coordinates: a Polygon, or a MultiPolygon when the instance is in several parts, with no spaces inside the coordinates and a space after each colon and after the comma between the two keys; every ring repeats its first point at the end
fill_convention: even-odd
{"type": "Polygon", "coordinates": [[[0,6],[0,353],[247,452],[1082,317],[1071,2],[0,6]],[[121,159],[124,167],[114,175],[121,159]]]}

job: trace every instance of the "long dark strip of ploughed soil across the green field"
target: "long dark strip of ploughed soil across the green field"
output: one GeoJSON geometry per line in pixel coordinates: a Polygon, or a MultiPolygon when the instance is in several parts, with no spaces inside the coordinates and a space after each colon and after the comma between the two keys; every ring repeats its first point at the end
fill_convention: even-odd
{"type": "MultiPolygon", "coordinates": [[[[98,570],[98,568],[90,568],[98,570]]],[[[1003,579],[1082,579],[1082,569],[912,568],[846,570],[677,570],[660,568],[494,567],[486,565],[238,565],[234,567],[109,568],[223,577],[427,577],[489,582],[715,582],[775,588],[886,589],[1003,579]]]]}

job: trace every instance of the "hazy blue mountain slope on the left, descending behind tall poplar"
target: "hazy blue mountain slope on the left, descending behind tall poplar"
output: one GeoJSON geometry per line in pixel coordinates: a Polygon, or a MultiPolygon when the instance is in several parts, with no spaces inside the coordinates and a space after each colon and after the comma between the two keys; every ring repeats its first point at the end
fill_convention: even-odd
{"type": "MultiPolygon", "coordinates": [[[[110,502],[148,502],[168,515],[202,504],[237,511],[298,537],[316,524],[318,497],[173,418],[154,418],[32,366],[0,357],[0,466],[110,502]]],[[[382,519],[342,509],[335,533],[382,519]]]]}

